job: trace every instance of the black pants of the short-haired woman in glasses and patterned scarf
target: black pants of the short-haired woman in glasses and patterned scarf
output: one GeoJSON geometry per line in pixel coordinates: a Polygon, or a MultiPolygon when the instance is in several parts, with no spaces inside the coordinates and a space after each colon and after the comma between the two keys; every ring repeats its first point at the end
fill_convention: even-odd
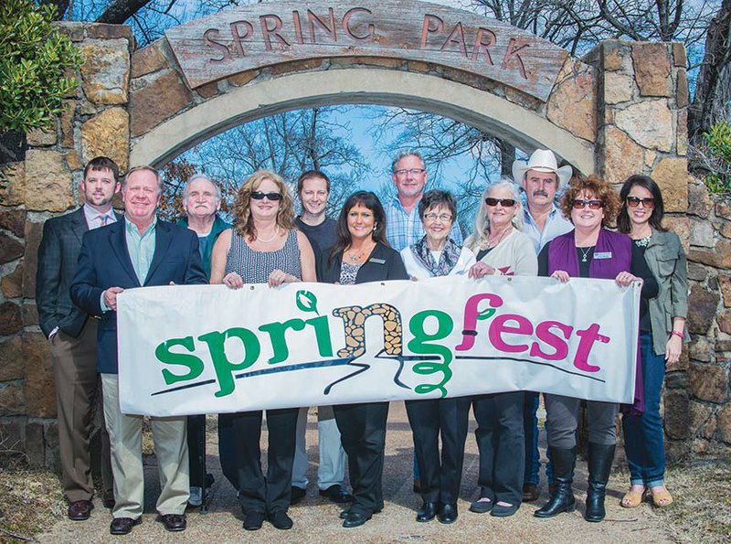
{"type": "Polygon", "coordinates": [[[457,502],[470,401],[464,397],[406,401],[424,501],[457,502]]]}

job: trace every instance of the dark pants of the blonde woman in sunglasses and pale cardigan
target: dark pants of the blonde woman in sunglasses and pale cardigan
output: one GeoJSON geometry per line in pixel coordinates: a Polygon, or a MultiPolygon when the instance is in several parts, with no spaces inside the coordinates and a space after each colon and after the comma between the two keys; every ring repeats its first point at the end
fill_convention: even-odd
{"type": "Polygon", "coordinates": [[[523,500],[524,392],[481,395],[472,400],[480,451],[480,496],[511,505],[523,500]]]}

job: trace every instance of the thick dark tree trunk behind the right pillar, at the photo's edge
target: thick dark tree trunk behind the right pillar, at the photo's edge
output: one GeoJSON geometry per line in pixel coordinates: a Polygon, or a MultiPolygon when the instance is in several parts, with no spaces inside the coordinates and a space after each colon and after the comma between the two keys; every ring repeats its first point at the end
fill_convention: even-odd
{"type": "Polygon", "coordinates": [[[688,138],[692,143],[701,140],[711,126],[726,119],[727,104],[731,99],[731,0],[724,0],[708,26],[705,37],[705,55],[695,85],[693,103],[688,109],[688,138]]]}

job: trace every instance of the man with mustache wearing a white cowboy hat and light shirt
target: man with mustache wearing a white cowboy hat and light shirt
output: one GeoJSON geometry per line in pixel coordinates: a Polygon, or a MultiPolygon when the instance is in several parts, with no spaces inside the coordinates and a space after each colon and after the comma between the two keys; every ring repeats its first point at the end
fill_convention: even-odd
{"type": "MultiPolygon", "coordinates": [[[[556,164],[556,155],[547,149],[536,149],[528,162],[514,161],[513,177],[525,191],[527,206],[524,207],[524,228],[539,253],[550,240],[573,229],[571,222],[556,208],[556,191],[571,178],[571,166],[556,164]]],[[[538,452],[538,393],[525,391],[524,419],[525,472],[523,484],[524,502],[538,498],[538,472],[541,456],[538,452]]],[[[546,464],[549,486],[553,484],[550,464],[546,464]]]]}

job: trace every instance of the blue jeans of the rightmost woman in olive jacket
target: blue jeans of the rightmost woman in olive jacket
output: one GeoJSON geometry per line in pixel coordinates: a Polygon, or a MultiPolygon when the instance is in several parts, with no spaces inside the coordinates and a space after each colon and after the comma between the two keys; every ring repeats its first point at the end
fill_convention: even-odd
{"type": "Polygon", "coordinates": [[[623,415],[624,451],[630,464],[630,483],[654,487],[665,482],[665,444],[660,416],[660,394],[665,378],[665,356],[655,355],[652,335],[640,335],[645,411],[623,415]]]}

